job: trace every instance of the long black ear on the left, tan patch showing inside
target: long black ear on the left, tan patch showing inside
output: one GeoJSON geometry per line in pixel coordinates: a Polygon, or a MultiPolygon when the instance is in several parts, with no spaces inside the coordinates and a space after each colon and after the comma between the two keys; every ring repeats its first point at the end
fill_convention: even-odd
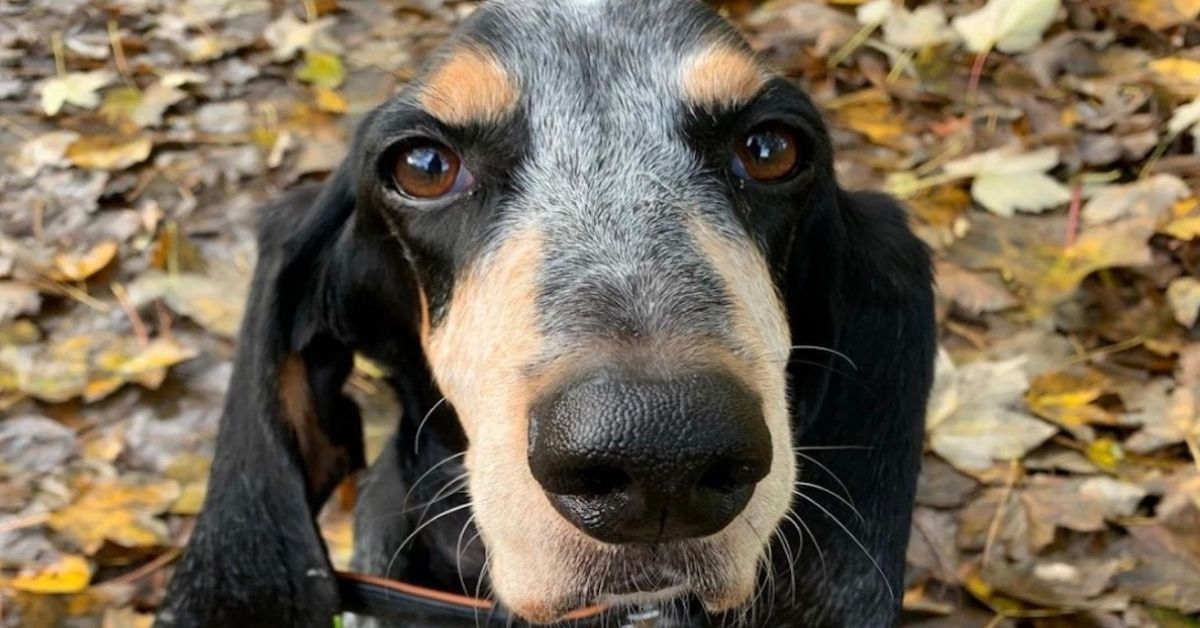
{"type": "Polygon", "coordinates": [[[353,263],[338,246],[354,211],[350,171],[311,205],[300,190],[265,210],[208,497],[158,626],[326,628],[337,608],[313,513],[362,465],[336,305],[353,263]]]}

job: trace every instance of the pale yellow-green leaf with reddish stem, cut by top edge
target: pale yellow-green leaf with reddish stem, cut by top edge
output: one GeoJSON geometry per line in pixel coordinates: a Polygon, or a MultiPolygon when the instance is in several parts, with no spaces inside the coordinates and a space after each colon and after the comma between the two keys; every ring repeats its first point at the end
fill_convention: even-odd
{"type": "Polygon", "coordinates": [[[1042,41],[1058,6],[1058,0],[988,0],[978,11],[954,18],[953,25],[973,53],[1021,53],[1042,41]]]}

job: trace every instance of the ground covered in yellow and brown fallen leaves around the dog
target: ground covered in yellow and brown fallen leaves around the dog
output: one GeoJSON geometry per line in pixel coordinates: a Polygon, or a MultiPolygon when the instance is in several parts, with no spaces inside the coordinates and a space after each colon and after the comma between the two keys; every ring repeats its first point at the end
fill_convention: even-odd
{"type": "MultiPolygon", "coordinates": [[[[0,626],[149,623],[256,207],[328,174],[470,10],[0,0],[0,626]]],[[[1200,626],[1200,1],[722,10],[937,255],[913,624],[1200,626]]],[[[376,448],[377,375],[350,383],[376,448]]]]}

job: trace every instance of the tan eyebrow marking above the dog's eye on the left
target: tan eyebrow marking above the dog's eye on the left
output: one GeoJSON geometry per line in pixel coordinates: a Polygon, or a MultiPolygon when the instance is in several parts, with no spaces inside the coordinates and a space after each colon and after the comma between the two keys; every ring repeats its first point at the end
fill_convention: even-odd
{"type": "Polygon", "coordinates": [[[421,86],[418,100],[446,124],[496,121],[516,107],[520,92],[499,60],[475,46],[450,52],[421,86]]]}

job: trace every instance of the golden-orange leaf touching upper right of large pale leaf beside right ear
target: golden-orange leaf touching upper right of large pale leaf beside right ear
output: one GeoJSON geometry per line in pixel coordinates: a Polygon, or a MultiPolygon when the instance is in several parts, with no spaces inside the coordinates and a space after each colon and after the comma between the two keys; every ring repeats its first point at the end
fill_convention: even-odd
{"type": "Polygon", "coordinates": [[[1111,425],[1116,418],[1093,403],[1111,385],[1108,377],[1092,369],[1051,371],[1033,379],[1025,401],[1034,414],[1064,427],[1111,425]]]}

